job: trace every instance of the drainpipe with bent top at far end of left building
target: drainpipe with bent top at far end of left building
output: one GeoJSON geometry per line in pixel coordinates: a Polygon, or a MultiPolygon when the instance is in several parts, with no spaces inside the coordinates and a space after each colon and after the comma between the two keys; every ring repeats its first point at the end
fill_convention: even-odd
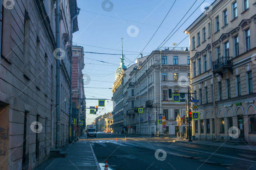
{"type": "MultiPolygon", "coordinates": [[[[72,64],[73,64],[73,20],[77,17],[80,12],[80,8],[77,8],[77,13],[71,18],[70,24],[70,45],[71,45],[71,59],[70,59],[70,99],[69,99],[69,142],[72,142],[71,139],[71,118],[72,118],[72,64]]],[[[77,127],[76,127],[77,128],[77,127]]]]}

